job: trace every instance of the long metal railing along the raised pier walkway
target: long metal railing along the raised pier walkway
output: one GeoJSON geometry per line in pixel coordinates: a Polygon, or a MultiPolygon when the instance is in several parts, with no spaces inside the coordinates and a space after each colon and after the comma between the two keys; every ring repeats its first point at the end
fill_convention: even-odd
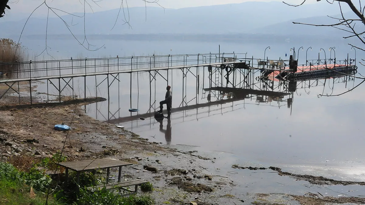
{"type": "Polygon", "coordinates": [[[0,72],[9,79],[36,80],[47,77],[77,77],[97,75],[115,71],[146,72],[148,70],[173,69],[224,62],[246,54],[205,53],[184,55],[150,55],[111,58],[65,59],[51,61],[28,61],[0,63],[0,72]]]}

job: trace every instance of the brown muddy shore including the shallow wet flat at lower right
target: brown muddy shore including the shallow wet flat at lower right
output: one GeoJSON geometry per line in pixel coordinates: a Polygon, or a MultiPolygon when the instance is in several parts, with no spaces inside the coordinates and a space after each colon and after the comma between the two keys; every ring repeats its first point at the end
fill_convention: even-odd
{"type": "MultiPolygon", "coordinates": [[[[147,194],[157,204],[364,203],[364,182],[299,175],[280,167],[231,166],[218,153],[171,148],[95,120],[83,109],[91,102],[17,105],[14,96],[5,97],[0,105],[2,159],[43,158],[65,146],[69,160],[126,160],[134,165],[123,167],[123,179],[153,183],[154,190],[147,194]],[[72,129],[55,131],[53,126],[60,123],[72,129]]],[[[111,171],[116,174],[117,170],[111,171]]]]}

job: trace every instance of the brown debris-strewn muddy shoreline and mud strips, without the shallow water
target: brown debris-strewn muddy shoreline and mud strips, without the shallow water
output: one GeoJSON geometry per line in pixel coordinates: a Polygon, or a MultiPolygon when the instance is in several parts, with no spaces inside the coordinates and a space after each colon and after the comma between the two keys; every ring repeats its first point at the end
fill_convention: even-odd
{"type": "MultiPolygon", "coordinates": [[[[5,91],[4,89],[0,87],[0,94],[5,91]]],[[[209,165],[214,163],[214,158],[201,156],[195,151],[181,151],[161,143],[150,142],[123,128],[117,128],[113,124],[88,116],[82,106],[105,100],[103,98],[87,98],[86,102],[84,99],[70,99],[61,103],[47,104],[39,101],[32,105],[28,103],[27,97],[21,97],[20,100],[19,105],[18,96],[7,94],[0,101],[0,147],[3,160],[19,155],[42,158],[56,153],[65,145],[64,153],[69,160],[112,157],[134,163],[131,167],[123,168],[124,178],[142,178],[153,183],[155,190],[150,194],[156,198],[157,204],[189,204],[190,202],[285,204],[270,199],[275,194],[265,196],[251,192],[240,196],[234,194],[237,193],[241,182],[226,175],[214,174],[218,169],[209,165]],[[68,133],[55,131],[53,126],[60,123],[68,124],[72,129],[68,133]],[[205,168],[208,166],[210,168],[205,168]],[[146,167],[155,169],[146,171],[146,167]],[[257,198],[264,200],[260,201],[257,198]]],[[[281,171],[278,167],[233,165],[231,170],[234,169],[270,169],[280,176],[293,177],[316,185],[365,185],[365,182],[336,181],[324,177],[293,174],[281,171]]],[[[302,194],[303,196],[288,195],[292,198],[287,198],[286,202],[288,200],[297,201],[300,204],[323,204],[324,202],[326,204],[361,204],[364,202],[361,197],[328,198],[328,196],[302,194]],[[314,200],[303,197],[312,197],[314,200]]]]}

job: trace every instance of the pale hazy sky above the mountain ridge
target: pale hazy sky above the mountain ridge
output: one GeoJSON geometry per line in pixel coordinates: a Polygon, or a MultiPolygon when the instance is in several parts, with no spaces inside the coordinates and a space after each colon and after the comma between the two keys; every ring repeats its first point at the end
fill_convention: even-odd
{"type": "MultiPolygon", "coordinates": [[[[23,13],[24,15],[31,13],[38,5],[40,5],[44,0],[10,0],[11,11],[8,11],[8,15],[12,15],[13,13],[23,13]]],[[[95,0],[97,1],[97,0],[95,0]]],[[[92,0],[87,0],[87,2],[91,5],[93,11],[105,11],[114,8],[119,8],[122,0],[102,0],[98,2],[96,5],[92,0]]],[[[147,1],[155,1],[155,0],[147,0],[147,1]]],[[[185,8],[185,7],[198,7],[198,6],[207,6],[207,5],[217,5],[217,4],[232,4],[232,3],[242,3],[247,1],[255,1],[255,0],[157,0],[158,3],[165,8],[185,8]]],[[[273,0],[256,0],[256,1],[273,1],[273,0]]],[[[282,0],[274,0],[274,1],[282,1],[282,0]]],[[[308,3],[314,3],[316,0],[307,0],[308,3]]],[[[50,7],[62,9],[67,12],[83,12],[84,0],[46,0],[47,4],[50,7]],[[81,2],[81,3],[80,3],[81,2]]],[[[124,5],[126,3],[129,7],[136,6],[145,6],[145,1],[143,0],[123,0],[124,5]]],[[[298,0],[287,0],[288,3],[298,3],[298,0]]],[[[155,3],[147,3],[147,6],[158,6],[155,3]]],[[[86,8],[87,12],[91,12],[90,7],[86,8]]],[[[45,14],[47,13],[46,7],[40,8],[35,13],[45,14]]]]}

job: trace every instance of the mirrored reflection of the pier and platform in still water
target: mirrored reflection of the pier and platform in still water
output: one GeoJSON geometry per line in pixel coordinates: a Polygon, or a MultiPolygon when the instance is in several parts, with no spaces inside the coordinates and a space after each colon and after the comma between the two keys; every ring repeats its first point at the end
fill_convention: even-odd
{"type": "MultiPolygon", "coordinates": [[[[206,117],[224,115],[225,113],[235,112],[239,109],[246,109],[249,106],[253,108],[251,105],[277,107],[278,109],[284,107],[290,109],[288,114],[290,113],[289,115],[292,115],[292,109],[295,106],[294,98],[296,100],[299,99],[298,96],[302,95],[301,90],[309,95],[310,89],[316,89],[315,87],[317,87],[319,89],[316,89],[316,92],[320,90],[322,94],[326,94],[324,90],[330,89],[328,94],[331,94],[333,93],[335,84],[344,84],[345,88],[349,89],[349,87],[353,87],[354,85],[354,78],[350,75],[356,74],[356,70],[343,70],[342,74],[330,73],[327,75],[308,75],[300,76],[300,78],[284,79],[280,78],[278,74],[274,75],[273,73],[268,73],[267,77],[263,77],[262,73],[265,71],[262,69],[240,69],[234,75],[235,83],[232,86],[222,84],[222,78],[219,80],[219,77],[216,78],[217,83],[212,83],[211,79],[213,78],[203,78],[203,82],[201,83],[203,84],[203,88],[199,88],[198,85],[196,93],[189,93],[186,89],[186,84],[189,81],[183,81],[183,85],[175,85],[172,88],[173,93],[174,91],[176,93],[178,89],[182,89],[183,96],[173,95],[173,99],[182,101],[180,105],[173,103],[172,114],[169,119],[156,120],[154,118],[154,113],[158,109],[155,102],[161,98],[156,92],[150,92],[150,95],[147,97],[144,96],[146,98],[142,100],[138,98],[137,108],[139,106],[140,111],[137,113],[120,114],[120,105],[116,107],[115,104],[112,106],[111,103],[108,103],[107,109],[110,115],[108,115],[108,119],[104,117],[107,115],[104,114],[102,116],[105,122],[123,125],[130,131],[137,129],[138,132],[147,132],[148,130],[158,129],[157,132],[164,135],[166,144],[173,144],[172,124],[178,125],[189,121],[199,121],[199,119],[206,117]],[[208,82],[205,82],[208,88],[204,88],[204,81],[208,82]],[[198,98],[193,98],[192,100],[194,101],[188,101],[186,99],[189,94],[190,97],[196,95],[198,98]],[[150,103],[146,100],[147,98],[150,99],[150,103]],[[153,98],[155,100],[151,101],[153,98]],[[141,110],[141,107],[144,107],[145,110],[141,110]]],[[[212,72],[210,74],[212,75],[212,72]]],[[[199,73],[196,76],[197,79],[200,79],[199,73]]],[[[230,81],[233,80],[231,79],[230,81]]],[[[191,90],[189,91],[191,92],[191,90]]],[[[138,94],[137,96],[139,97],[139,90],[137,92],[136,95],[138,94]]],[[[122,98],[119,97],[119,99],[122,98]]],[[[132,101],[132,97],[130,101],[132,101]]],[[[99,107],[96,106],[96,109],[97,112],[102,113],[99,107]]],[[[166,111],[164,111],[164,114],[166,116],[166,111]]],[[[181,134],[177,133],[175,135],[181,134]]]]}

